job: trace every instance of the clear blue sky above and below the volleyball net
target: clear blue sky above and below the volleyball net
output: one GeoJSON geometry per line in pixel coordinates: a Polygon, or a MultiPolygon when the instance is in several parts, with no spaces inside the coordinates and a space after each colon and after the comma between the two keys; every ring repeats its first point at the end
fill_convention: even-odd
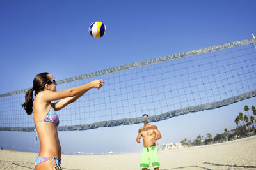
{"type": "MultiPolygon", "coordinates": [[[[256,1],[0,1],[0,94],[32,86],[47,71],[56,80],[172,53],[252,38],[256,1]],[[89,25],[102,21],[95,39],[89,25]]],[[[152,124],[159,144],[212,136],[236,127],[234,118],[255,98],[152,124]]],[[[59,115],[61,117],[61,115],[59,115]]],[[[140,152],[143,124],[60,132],[64,152],[140,152]],[[104,144],[102,144],[104,143],[104,144]]],[[[36,152],[32,132],[0,131],[0,146],[36,152]],[[4,138],[2,138],[4,136],[4,138]],[[17,142],[19,141],[19,142],[17,142]]]]}

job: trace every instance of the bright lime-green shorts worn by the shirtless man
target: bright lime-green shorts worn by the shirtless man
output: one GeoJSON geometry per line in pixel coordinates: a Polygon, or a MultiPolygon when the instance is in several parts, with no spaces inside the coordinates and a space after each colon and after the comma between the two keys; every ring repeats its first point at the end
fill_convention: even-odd
{"type": "Polygon", "coordinates": [[[160,167],[156,146],[143,148],[140,158],[140,168],[148,168],[150,162],[152,162],[154,168],[160,167]]]}

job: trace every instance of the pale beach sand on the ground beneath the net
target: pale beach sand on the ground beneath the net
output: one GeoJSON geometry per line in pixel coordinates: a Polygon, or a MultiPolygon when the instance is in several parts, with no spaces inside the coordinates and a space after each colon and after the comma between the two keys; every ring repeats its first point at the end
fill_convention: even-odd
{"type": "MultiPolygon", "coordinates": [[[[141,148],[142,150],[142,148],[141,148]]],[[[212,145],[159,151],[160,169],[256,169],[256,136],[212,145]]],[[[38,153],[0,150],[0,169],[34,169],[38,153]]],[[[62,169],[140,169],[141,153],[61,155],[62,169]]],[[[154,169],[150,165],[150,169],[154,169]]]]}

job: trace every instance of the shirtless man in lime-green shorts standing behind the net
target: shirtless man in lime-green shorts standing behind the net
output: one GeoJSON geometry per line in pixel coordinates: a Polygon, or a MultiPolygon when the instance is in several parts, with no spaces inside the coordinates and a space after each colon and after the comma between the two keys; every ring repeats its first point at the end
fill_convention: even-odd
{"type": "MultiPolygon", "coordinates": [[[[143,117],[148,117],[144,114],[143,117]]],[[[158,160],[156,140],[160,139],[162,136],[158,131],[156,125],[150,125],[148,122],[144,122],[144,126],[140,127],[139,134],[136,141],[140,143],[140,138],[143,138],[143,151],[140,158],[140,167],[142,170],[147,170],[150,162],[155,170],[159,170],[160,164],[158,160]]]]}

